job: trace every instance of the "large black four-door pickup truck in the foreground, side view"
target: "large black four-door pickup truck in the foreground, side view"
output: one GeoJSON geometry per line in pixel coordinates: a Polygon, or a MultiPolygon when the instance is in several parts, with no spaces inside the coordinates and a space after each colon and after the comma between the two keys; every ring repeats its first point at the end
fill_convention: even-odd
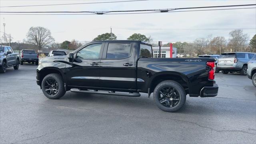
{"type": "Polygon", "coordinates": [[[47,98],[66,91],[140,96],[153,93],[164,111],[180,109],[186,95],[213,97],[214,58],[153,58],[152,46],[140,41],[94,41],[69,53],[40,60],[36,82],[47,98]]]}

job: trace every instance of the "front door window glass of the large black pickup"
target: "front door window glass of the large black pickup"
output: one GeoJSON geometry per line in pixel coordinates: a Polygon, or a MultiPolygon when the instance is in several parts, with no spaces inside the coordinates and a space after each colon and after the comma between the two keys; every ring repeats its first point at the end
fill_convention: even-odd
{"type": "Polygon", "coordinates": [[[98,59],[100,57],[100,48],[102,44],[91,44],[86,46],[76,54],[79,59],[98,59]]]}

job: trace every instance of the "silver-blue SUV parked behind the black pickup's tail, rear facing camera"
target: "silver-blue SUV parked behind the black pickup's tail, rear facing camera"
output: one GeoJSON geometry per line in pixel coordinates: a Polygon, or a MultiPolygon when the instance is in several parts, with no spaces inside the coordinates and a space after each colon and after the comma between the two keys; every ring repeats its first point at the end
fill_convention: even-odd
{"type": "Polygon", "coordinates": [[[247,62],[254,56],[251,52],[225,52],[218,59],[217,69],[223,74],[239,72],[246,75],[247,62]]]}

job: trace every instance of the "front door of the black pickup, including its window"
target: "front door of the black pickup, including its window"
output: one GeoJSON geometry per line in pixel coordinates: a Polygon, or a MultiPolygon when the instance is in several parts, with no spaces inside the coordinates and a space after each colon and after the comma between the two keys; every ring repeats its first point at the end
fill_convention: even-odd
{"type": "Polygon", "coordinates": [[[100,59],[104,43],[91,43],[74,53],[74,62],[67,62],[68,86],[99,87],[100,59]]]}

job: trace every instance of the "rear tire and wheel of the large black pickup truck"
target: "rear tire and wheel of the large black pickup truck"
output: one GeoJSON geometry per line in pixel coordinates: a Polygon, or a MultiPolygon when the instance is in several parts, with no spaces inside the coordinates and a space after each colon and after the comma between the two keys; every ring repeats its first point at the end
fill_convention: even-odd
{"type": "Polygon", "coordinates": [[[175,112],[186,102],[184,88],[173,80],[160,82],[154,89],[156,106],[165,112],[175,112]]]}

